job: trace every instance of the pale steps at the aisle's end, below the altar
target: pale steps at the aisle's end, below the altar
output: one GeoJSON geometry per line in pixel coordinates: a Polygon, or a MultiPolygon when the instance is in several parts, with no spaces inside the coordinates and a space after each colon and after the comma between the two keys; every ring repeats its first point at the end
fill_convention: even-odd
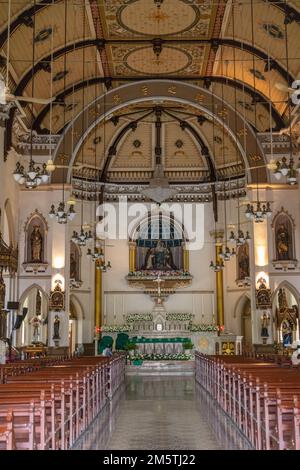
{"type": "Polygon", "coordinates": [[[194,375],[194,361],[144,361],[140,366],[127,365],[126,375],[194,375]]]}

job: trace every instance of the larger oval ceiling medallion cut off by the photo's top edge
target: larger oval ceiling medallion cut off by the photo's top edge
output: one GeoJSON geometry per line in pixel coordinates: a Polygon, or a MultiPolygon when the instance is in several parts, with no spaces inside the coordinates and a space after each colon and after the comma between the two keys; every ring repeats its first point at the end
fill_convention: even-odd
{"type": "Polygon", "coordinates": [[[121,27],[149,36],[182,33],[193,28],[199,19],[198,8],[189,0],[164,0],[159,8],[150,0],[128,0],[117,12],[121,27]]]}

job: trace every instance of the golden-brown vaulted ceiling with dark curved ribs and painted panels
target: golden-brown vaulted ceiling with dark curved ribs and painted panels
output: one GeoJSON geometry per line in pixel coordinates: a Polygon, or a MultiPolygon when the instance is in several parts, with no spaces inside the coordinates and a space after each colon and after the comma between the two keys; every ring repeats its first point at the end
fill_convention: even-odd
{"type": "MultiPolygon", "coordinates": [[[[0,72],[5,76],[10,32],[10,90],[56,97],[52,105],[23,106],[27,127],[38,132],[60,133],[107,89],[149,78],[203,86],[258,131],[280,129],[288,121],[288,94],[275,85],[290,85],[300,74],[299,0],[12,0],[9,30],[8,11],[4,0],[0,72]]],[[[151,124],[144,126],[141,140],[149,140],[151,124]]],[[[166,136],[174,135],[166,140],[171,147],[176,126],[166,125],[166,136]]],[[[116,130],[111,126],[111,132],[116,130]]],[[[215,131],[209,121],[201,128],[211,146],[215,131]]],[[[225,165],[239,161],[229,137],[223,140],[230,149],[225,165]]],[[[90,165],[91,145],[84,145],[90,165]]],[[[131,144],[125,142],[122,151],[126,145],[131,144]]],[[[192,142],[184,145],[189,149],[192,142]]],[[[214,153],[218,167],[221,161],[214,153]]],[[[147,165],[151,161],[145,159],[142,166],[147,165]]],[[[122,155],[113,166],[123,168],[122,155]]]]}

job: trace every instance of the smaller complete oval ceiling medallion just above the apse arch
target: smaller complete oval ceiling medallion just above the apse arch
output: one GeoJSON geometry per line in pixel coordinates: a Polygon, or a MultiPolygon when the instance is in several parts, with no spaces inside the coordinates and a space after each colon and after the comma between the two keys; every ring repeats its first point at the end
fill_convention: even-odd
{"type": "Polygon", "coordinates": [[[124,62],[134,72],[158,75],[181,72],[192,63],[192,57],[186,51],[169,46],[156,57],[152,48],[141,47],[130,51],[124,62]]]}

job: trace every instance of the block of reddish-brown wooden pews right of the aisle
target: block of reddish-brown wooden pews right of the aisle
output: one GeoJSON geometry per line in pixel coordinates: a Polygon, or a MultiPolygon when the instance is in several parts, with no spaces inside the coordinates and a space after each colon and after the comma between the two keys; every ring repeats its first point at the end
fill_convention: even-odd
{"type": "Polygon", "coordinates": [[[257,450],[300,450],[300,369],[272,358],[195,354],[196,382],[257,450]]]}

